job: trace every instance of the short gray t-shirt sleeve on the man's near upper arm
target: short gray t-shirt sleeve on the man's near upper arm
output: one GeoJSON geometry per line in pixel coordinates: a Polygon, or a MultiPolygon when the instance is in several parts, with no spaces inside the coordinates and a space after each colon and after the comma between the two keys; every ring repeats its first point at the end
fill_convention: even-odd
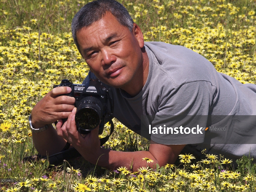
{"type": "Polygon", "coordinates": [[[207,115],[215,91],[216,87],[207,81],[185,83],[172,90],[168,90],[168,86],[162,89],[158,111],[151,124],[151,140],[160,144],[204,142],[207,115]]]}

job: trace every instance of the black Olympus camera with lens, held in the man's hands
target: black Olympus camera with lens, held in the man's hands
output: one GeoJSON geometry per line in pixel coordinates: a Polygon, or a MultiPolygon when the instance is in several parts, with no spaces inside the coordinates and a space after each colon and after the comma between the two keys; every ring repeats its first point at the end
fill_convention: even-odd
{"type": "MultiPolygon", "coordinates": [[[[114,101],[111,89],[105,88],[98,79],[92,78],[86,84],[73,84],[68,79],[63,79],[61,84],[54,85],[53,88],[61,86],[68,86],[72,89],[70,93],[63,95],[76,99],[75,121],[77,131],[81,134],[87,134],[100,125],[99,134],[101,134],[105,119],[108,119],[108,121],[109,118],[112,119],[114,101]]],[[[66,120],[64,119],[64,121],[66,120]]]]}

